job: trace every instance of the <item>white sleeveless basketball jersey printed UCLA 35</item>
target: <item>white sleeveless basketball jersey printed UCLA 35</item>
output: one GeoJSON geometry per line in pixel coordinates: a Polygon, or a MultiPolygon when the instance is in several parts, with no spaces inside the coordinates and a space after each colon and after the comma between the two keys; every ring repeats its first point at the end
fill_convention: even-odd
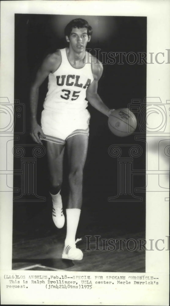
{"type": "Polygon", "coordinates": [[[57,113],[75,114],[87,107],[86,90],[94,80],[91,54],[86,51],[83,68],[74,68],[68,61],[66,48],[60,52],[61,65],[54,73],[49,74],[48,92],[43,107],[57,113]]]}

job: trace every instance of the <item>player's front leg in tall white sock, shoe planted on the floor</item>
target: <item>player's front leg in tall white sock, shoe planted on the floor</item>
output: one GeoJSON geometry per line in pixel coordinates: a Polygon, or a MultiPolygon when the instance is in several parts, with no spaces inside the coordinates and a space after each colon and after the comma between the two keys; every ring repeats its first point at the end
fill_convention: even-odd
{"type": "Polygon", "coordinates": [[[75,135],[67,140],[69,162],[69,199],[66,209],[67,233],[62,258],[81,260],[83,253],[76,248],[75,238],[82,205],[83,168],[88,148],[87,135],[75,135]]]}

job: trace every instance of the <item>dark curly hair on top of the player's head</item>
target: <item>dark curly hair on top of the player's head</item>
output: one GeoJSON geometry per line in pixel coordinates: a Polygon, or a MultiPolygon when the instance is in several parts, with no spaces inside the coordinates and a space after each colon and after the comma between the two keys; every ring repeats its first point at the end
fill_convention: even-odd
{"type": "Polygon", "coordinates": [[[92,27],[88,24],[88,22],[86,20],[84,20],[82,18],[73,19],[72,21],[70,21],[66,25],[65,30],[64,30],[65,36],[69,37],[73,28],[78,28],[78,29],[79,28],[87,28],[87,35],[88,36],[91,36],[92,32],[93,32],[92,27]]]}

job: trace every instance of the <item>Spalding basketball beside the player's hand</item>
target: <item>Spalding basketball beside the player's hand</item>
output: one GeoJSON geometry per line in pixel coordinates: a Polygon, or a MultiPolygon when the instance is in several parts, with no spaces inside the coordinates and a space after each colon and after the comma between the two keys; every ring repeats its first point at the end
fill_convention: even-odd
{"type": "Polygon", "coordinates": [[[137,120],[128,108],[113,110],[108,119],[110,131],[119,137],[131,135],[136,129],[137,120]]]}

